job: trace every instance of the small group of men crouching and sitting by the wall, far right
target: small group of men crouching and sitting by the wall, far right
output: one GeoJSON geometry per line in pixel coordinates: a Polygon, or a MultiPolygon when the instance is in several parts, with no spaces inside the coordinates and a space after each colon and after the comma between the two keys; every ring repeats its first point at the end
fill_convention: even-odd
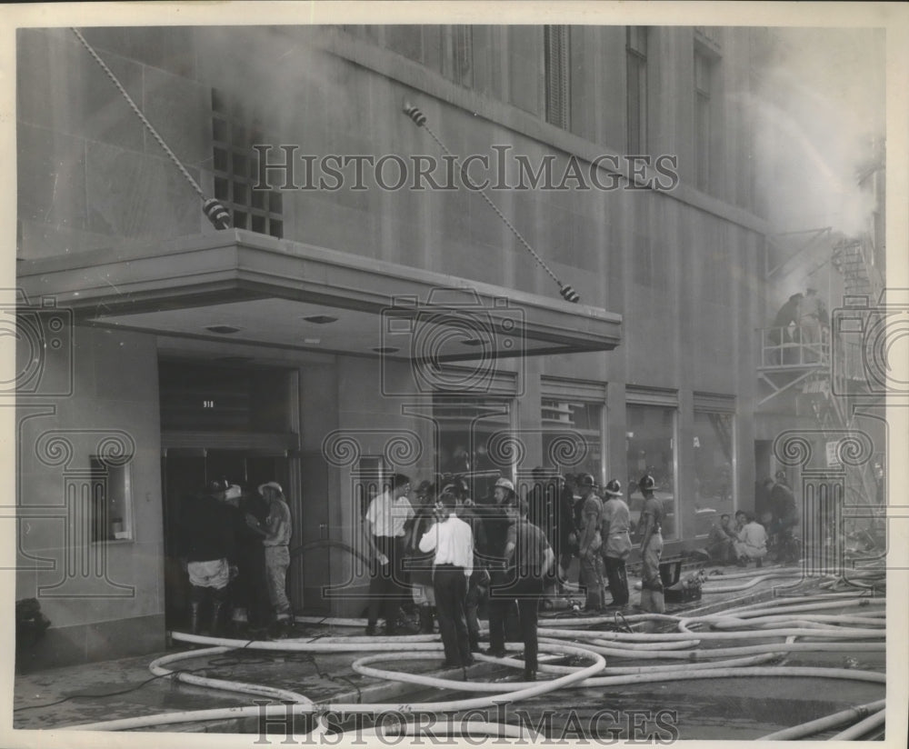
{"type": "Polygon", "coordinates": [[[777,471],[775,480],[765,478],[758,485],[754,498],[754,514],[739,510],[735,521],[728,514],[720,515],[719,523],[710,529],[707,553],[715,562],[745,567],[754,562],[763,566],[770,546],[775,544],[784,561],[794,562],[793,528],[799,524],[795,494],[784,471],[777,471]]]}

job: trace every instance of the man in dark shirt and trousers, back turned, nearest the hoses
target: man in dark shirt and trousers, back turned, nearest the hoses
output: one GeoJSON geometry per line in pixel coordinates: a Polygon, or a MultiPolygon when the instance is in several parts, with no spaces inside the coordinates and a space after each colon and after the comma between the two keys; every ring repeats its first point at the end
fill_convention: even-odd
{"type": "MultiPolygon", "coordinates": [[[[544,580],[553,568],[555,554],[543,531],[527,519],[528,506],[525,499],[509,504],[508,512],[513,523],[508,528],[505,542],[508,582],[504,590],[517,599],[521,639],[524,641],[524,681],[533,682],[536,681],[537,668],[537,612],[543,595],[544,580]]],[[[498,645],[504,650],[504,630],[494,632],[491,621],[489,642],[491,649],[498,645]]]]}

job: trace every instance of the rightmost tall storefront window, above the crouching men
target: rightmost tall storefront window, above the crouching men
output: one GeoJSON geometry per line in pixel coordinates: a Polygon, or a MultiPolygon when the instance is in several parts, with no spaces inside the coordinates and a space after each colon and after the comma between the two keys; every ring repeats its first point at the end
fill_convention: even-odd
{"type": "Polygon", "coordinates": [[[734,414],[694,411],[694,505],[685,508],[694,534],[708,534],[719,515],[734,512],[733,424],[734,414]]]}

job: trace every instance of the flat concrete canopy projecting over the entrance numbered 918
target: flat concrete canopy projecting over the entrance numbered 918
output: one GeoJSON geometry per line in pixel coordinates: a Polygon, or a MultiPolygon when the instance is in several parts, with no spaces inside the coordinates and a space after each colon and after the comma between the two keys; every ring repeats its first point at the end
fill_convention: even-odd
{"type": "Polygon", "coordinates": [[[238,229],[21,262],[31,305],[166,336],[424,362],[608,351],[621,315],[238,229]]]}

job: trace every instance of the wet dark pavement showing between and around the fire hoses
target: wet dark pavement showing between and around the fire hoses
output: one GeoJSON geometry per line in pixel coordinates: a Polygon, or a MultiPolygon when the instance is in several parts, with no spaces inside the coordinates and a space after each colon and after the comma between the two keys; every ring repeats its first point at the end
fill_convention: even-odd
{"type": "MultiPolygon", "coordinates": [[[[761,570],[752,568],[748,572],[766,574],[781,571],[779,567],[767,566],[761,570]]],[[[711,587],[737,587],[747,579],[730,580],[723,584],[727,574],[739,574],[735,567],[707,568],[712,573],[708,584],[711,587]]],[[[804,580],[798,584],[798,594],[817,592],[819,580],[804,580]]],[[[780,594],[781,585],[791,586],[792,579],[764,580],[743,591],[728,593],[706,593],[701,600],[684,604],[667,605],[668,614],[713,614],[736,606],[768,600],[780,594]]],[[[791,587],[788,593],[795,593],[791,587]]],[[[639,593],[632,592],[632,602],[626,613],[636,613],[639,593]]],[[[550,614],[554,615],[554,614],[550,614]]],[[[570,612],[558,614],[571,616],[570,612]]],[[[541,617],[544,625],[546,616],[541,617]]],[[[350,627],[326,626],[325,624],[298,625],[294,637],[360,635],[363,631],[350,627]]],[[[754,642],[761,642],[754,639],[754,642]]],[[[778,640],[777,640],[778,642],[778,640]]],[[[403,649],[418,649],[405,644],[403,649]]],[[[185,651],[185,644],[175,643],[168,651],[185,651]]],[[[155,678],[148,670],[148,664],[161,655],[124,658],[94,664],[48,669],[34,674],[20,674],[15,677],[14,727],[15,729],[53,729],[94,721],[111,720],[171,711],[234,707],[249,705],[255,697],[220,692],[205,687],[178,683],[168,677],[155,678]]],[[[182,669],[194,673],[252,684],[268,684],[305,694],[316,703],[403,703],[408,699],[437,701],[452,694],[441,689],[414,684],[391,683],[378,678],[356,674],[352,662],[362,653],[302,654],[237,650],[215,656],[201,656],[182,661],[182,669]]],[[[407,661],[406,665],[395,665],[394,655],[390,656],[389,668],[402,668],[411,673],[441,675],[447,678],[464,678],[461,669],[443,671],[441,652],[426,660],[407,661]]],[[[817,664],[837,667],[859,667],[884,672],[885,654],[862,653],[849,661],[844,654],[807,653],[798,658],[787,659],[787,664],[817,664]]],[[[642,661],[642,664],[646,662],[642,661]]],[[[653,663],[653,662],[650,662],[653,663]]],[[[634,661],[623,661],[623,665],[634,665],[634,661]]],[[[175,666],[176,667],[176,666],[175,666]]],[[[476,681],[495,681],[513,677],[513,669],[501,664],[481,662],[472,666],[467,678],[476,681]]],[[[673,724],[679,737],[684,739],[743,739],[757,738],[779,728],[802,723],[806,720],[834,713],[836,710],[881,699],[884,690],[880,684],[853,682],[830,682],[807,678],[748,678],[711,679],[698,682],[667,682],[657,684],[634,684],[621,690],[564,689],[556,693],[512,705],[514,710],[523,709],[531,716],[542,714],[545,708],[554,713],[554,728],[568,730],[568,738],[576,738],[570,732],[606,732],[604,735],[622,735],[631,730],[628,714],[642,725],[659,723],[663,716],[664,727],[673,724]],[[693,687],[693,684],[696,687],[693,687]],[[835,686],[834,694],[829,688],[835,686]],[[609,721],[597,723],[595,729],[590,721],[608,708],[617,711],[611,715],[616,720],[610,727],[609,721]],[[637,714],[638,717],[634,718],[637,714]],[[560,717],[561,716],[561,717],[560,717]],[[648,717],[649,716],[649,717],[648,717]],[[560,727],[560,720],[562,721],[560,727]],[[580,720],[580,724],[577,721],[580,720]],[[587,723],[584,723],[584,720],[587,723]],[[624,723],[622,723],[624,721],[624,723]],[[624,726],[624,728],[623,728],[624,726]],[[609,734],[613,731],[613,734],[609,734]]],[[[258,718],[232,718],[193,724],[174,724],[160,729],[145,729],[167,733],[259,733],[258,718]]],[[[275,731],[284,731],[278,726],[275,731]]],[[[550,733],[552,735],[552,732],[550,733]]],[[[624,736],[628,738],[628,736],[624,736]]],[[[634,736],[632,736],[634,738],[634,736]]],[[[277,738],[275,738],[280,743],[277,738]]],[[[269,742],[270,743],[270,742],[269,742]]]]}

